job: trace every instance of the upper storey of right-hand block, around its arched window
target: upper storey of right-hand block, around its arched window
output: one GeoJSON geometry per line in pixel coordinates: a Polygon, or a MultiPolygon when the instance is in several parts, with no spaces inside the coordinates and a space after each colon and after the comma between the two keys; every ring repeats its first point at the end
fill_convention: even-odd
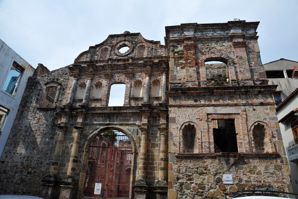
{"type": "Polygon", "coordinates": [[[227,65],[229,86],[267,84],[257,42],[258,24],[243,20],[165,27],[170,87],[208,86],[208,61],[227,65]]]}

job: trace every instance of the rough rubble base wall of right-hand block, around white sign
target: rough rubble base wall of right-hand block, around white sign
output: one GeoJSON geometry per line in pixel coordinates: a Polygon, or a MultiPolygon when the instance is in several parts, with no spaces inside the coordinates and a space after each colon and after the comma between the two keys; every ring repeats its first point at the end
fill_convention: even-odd
{"type": "Polygon", "coordinates": [[[288,191],[290,169],[286,164],[279,157],[181,156],[169,167],[169,189],[173,190],[169,195],[200,199],[231,197],[241,190],[288,191]],[[232,174],[233,184],[224,184],[224,174],[232,174]]]}

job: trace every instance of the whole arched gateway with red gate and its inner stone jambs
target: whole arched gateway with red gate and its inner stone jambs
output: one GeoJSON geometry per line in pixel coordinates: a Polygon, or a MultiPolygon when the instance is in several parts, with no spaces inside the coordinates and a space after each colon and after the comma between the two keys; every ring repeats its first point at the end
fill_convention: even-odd
{"type": "Polygon", "coordinates": [[[84,197],[132,198],[136,173],[136,143],[121,127],[93,131],[84,144],[79,193],[84,197]],[[95,195],[95,186],[101,192],[95,195]]]}

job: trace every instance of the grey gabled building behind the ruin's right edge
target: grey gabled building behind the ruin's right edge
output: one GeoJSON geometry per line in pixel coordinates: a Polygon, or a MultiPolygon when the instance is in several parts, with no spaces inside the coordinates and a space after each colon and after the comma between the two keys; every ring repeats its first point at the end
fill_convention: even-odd
{"type": "Polygon", "coordinates": [[[292,79],[294,67],[298,67],[298,62],[283,58],[264,64],[268,84],[278,85],[273,94],[276,105],[285,100],[298,87],[298,78],[296,78],[298,74],[295,73],[295,78],[292,79]]]}

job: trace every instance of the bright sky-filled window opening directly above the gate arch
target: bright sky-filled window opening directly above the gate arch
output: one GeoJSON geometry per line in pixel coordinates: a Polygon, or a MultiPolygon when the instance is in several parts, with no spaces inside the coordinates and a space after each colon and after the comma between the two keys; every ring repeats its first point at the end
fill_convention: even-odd
{"type": "Polygon", "coordinates": [[[113,84],[110,89],[108,106],[123,106],[125,96],[125,84],[113,84]]]}

